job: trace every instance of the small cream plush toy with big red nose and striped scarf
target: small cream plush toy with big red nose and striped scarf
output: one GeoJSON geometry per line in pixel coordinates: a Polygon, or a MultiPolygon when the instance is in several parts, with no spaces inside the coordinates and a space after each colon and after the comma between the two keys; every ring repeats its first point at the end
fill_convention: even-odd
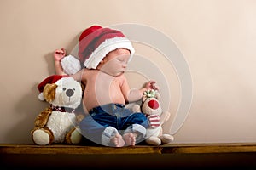
{"type": "Polygon", "coordinates": [[[145,142],[151,145],[170,144],[174,140],[171,134],[163,133],[162,125],[170,118],[169,111],[162,111],[160,93],[157,90],[147,90],[143,93],[141,105],[133,105],[132,111],[143,112],[151,117],[151,127],[147,128],[145,142]],[[159,123],[160,118],[160,124],[159,123]],[[154,124],[154,120],[158,122],[154,124]]]}

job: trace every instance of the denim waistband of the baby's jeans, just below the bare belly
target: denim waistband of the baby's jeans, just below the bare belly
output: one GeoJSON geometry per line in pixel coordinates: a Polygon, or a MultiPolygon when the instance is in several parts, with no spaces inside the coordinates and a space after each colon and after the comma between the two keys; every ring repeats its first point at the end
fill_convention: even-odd
{"type": "Polygon", "coordinates": [[[106,113],[112,114],[113,111],[124,109],[124,108],[125,108],[125,105],[122,105],[122,104],[100,105],[100,106],[97,106],[95,108],[92,108],[89,111],[89,114],[92,114],[92,113],[102,113],[102,112],[106,112],[106,113]]]}

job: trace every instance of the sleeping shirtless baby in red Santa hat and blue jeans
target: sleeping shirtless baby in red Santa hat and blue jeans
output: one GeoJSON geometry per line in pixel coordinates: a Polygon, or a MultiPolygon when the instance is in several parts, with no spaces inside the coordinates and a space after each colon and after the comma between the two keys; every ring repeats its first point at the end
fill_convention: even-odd
{"type": "MultiPolygon", "coordinates": [[[[79,123],[84,137],[98,144],[133,146],[144,139],[150,126],[143,113],[132,113],[125,104],[142,99],[147,89],[158,89],[149,81],[141,89],[130,89],[124,75],[134,54],[131,42],[121,31],[90,26],[79,37],[79,60],[84,68],[70,75],[85,85],[84,119],[79,123]]],[[[64,48],[56,49],[56,74],[65,74],[61,59],[64,48]]]]}

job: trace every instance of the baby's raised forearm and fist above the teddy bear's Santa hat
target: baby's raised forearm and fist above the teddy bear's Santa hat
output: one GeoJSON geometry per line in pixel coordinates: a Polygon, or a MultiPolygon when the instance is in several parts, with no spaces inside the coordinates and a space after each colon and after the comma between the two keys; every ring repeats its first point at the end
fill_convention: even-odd
{"type": "Polygon", "coordinates": [[[64,48],[56,49],[54,53],[55,58],[55,72],[57,75],[65,75],[66,73],[63,71],[61,66],[61,59],[66,55],[66,50],[64,48]]]}

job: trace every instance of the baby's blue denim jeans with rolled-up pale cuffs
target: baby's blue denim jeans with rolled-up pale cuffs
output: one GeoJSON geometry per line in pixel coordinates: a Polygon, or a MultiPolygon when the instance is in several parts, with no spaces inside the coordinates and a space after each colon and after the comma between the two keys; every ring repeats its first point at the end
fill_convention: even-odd
{"type": "Polygon", "coordinates": [[[133,132],[139,133],[137,142],[141,142],[149,126],[143,113],[132,113],[125,105],[101,105],[91,109],[89,114],[79,123],[79,128],[85,138],[97,144],[109,146],[110,139],[116,133],[133,132]]]}

